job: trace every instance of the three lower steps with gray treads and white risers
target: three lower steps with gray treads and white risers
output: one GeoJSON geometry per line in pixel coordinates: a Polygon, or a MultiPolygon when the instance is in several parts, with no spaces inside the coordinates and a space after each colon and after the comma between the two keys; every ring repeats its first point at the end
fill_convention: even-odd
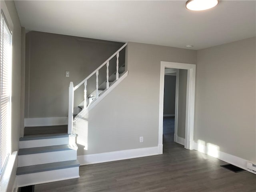
{"type": "Polygon", "coordinates": [[[54,130],[55,127],[40,128],[41,132],[38,132],[38,127],[30,127],[36,134],[26,134],[25,128],[25,136],[20,138],[19,143],[18,187],[79,178],[75,136],[67,133],[47,134],[47,130],[54,130]]]}

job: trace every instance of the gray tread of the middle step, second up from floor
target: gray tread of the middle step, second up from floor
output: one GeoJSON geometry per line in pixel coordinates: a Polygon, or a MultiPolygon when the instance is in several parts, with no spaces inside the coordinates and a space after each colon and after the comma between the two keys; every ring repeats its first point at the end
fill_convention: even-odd
{"type": "Polygon", "coordinates": [[[46,152],[64,151],[64,150],[73,150],[73,149],[74,148],[72,148],[69,144],[23,148],[19,150],[18,155],[28,155],[28,154],[46,153],[46,152]]]}

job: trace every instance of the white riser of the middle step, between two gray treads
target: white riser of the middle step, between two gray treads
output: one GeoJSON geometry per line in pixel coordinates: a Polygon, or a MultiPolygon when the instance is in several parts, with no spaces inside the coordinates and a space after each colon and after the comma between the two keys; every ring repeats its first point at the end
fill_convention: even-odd
{"type": "Polygon", "coordinates": [[[76,150],[63,150],[18,156],[18,167],[76,160],[76,150]]]}

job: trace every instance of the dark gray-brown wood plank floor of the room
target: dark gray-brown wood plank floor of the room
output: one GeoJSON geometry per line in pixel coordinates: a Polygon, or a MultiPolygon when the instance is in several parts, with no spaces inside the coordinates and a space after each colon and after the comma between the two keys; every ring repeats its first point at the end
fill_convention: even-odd
{"type": "Polygon", "coordinates": [[[173,142],[165,118],[164,154],[80,166],[80,178],[39,184],[35,192],[255,192],[256,175],[173,142]]]}

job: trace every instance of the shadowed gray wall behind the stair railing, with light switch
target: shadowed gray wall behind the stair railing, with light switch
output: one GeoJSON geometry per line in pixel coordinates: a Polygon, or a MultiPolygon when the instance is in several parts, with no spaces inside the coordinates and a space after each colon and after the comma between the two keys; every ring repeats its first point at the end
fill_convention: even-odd
{"type": "MultiPolygon", "coordinates": [[[[68,115],[68,87],[74,86],[93,72],[118,50],[123,43],[94,40],[44,32],[26,34],[25,117],[65,117],[68,115]],[[70,71],[70,77],[65,77],[70,71]]],[[[123,51],[124,52],[124,51],[123,51]]],[[[124,55],[120,56],[120,65],[124,55]]],[[[110,63],[114,72],[116,58],[110,63]]],[[[100,70],[99,82],[106,78],[100,70]]],[[[88,81],[87,93],[96,89],[96,76],[88,81]]],[[[74,104],[84,100],[84,86],[74,94],[74,104]]]]}

